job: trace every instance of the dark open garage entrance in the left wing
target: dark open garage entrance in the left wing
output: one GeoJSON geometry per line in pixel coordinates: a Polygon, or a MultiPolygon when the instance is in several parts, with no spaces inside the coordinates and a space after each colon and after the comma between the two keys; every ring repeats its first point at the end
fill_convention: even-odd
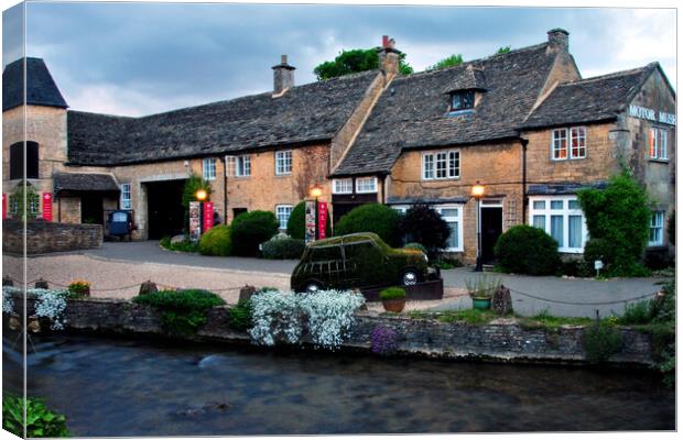
{"type": "Polygon", "coordinates": [[[183,233],[185,210],[183,187],[186,179],[145,183],[148,238],[160,240],[183,233]]]}

